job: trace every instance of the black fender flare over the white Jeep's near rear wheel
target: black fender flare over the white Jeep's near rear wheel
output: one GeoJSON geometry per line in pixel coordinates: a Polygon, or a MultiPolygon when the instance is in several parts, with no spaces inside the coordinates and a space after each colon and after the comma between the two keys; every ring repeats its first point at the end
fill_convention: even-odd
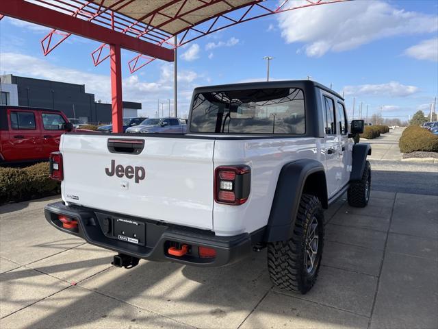
{"type": "MultiPolygon", "coordinates": [[[[301,195],[307,178],[313,173],[323,175],[325,181],[324,166],[317,160],[296,160],[281,168],[263,241],[287,241],[292,237],[301,195]]],[[[320,188],[326,195],[326,182],[321,183],[324,184],[320,188]]],[[[324,205],[327,200],[321,202],[324,205]]]]}

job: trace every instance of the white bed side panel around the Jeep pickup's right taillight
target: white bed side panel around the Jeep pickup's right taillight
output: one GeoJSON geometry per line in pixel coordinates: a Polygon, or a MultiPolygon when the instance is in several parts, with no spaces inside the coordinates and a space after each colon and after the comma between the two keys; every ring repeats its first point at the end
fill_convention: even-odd
{"type": "MultiPolygon", "coordinates": [[[[232,236],[254,232],[268,223],[279,173],[284,164],[300,159],[324,164],[324,138],[272,138],[247,141],[217,140],[214,167],[246,164],[251,168],[250,196],[245,204],[214,204],[214,231],[232,236]]],[[[326,188],[326,186],[321,186],[326,188]]]]}

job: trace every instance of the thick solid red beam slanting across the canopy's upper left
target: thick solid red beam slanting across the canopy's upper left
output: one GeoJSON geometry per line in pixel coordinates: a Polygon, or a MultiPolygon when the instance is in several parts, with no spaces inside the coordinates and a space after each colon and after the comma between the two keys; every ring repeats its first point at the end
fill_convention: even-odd
{"type": "Polygon", "coordinates": [[[136,51],[144,55],[153,56],[161,60],[172,62],[173,50],[154,45],[153,43],[133,38],[126,34],[107,29],[101,25],[83,21],[76,17],[62,14],[55,10],[34,5],[24,0],[2,1],[0,14],[21,19],[38,25],[44,25],[53,29],[83,36],[92,40],[105,42],[109,45],[118,45],[124,49],[136,51]]]}

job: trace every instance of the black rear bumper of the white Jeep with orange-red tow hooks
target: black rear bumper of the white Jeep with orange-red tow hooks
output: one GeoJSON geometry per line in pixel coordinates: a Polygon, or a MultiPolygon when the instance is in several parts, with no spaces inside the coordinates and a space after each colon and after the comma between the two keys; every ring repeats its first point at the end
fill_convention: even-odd
{"type": "Polygon", "coordinates": [[[173,226],[159,221],[101,212],[91,208],[65,206],[62,202],[47,205],[44,208],[44,215],[47,221],[58,230],[79,236],[98,247],[146,260],[175,262],[201,267],[218,267],[235,263],[247,256],[252,250],[252,245],[258,242],[254,240],[263,235],[263,232],[257,231],[257,234],[244,233],[236,236],[215,236],[214,232],[207,230],[173,226]],[[76,219],[78,222],[77,228],[63,228],[58,215],[76,219]],[[120,241],[114,236],[114,233],[107,232],[107,227],[105,227],[107,233],[103,233],[103,220],[120,218],[145,224],[144,245],[120,241]],[[190,253],[179,257],[168,254],[168,248],[175,243],[189,245],[190,253]],[[201,258],[198,256],[199,246],[215,249],[216,256],[214,258],[201,258]]]}

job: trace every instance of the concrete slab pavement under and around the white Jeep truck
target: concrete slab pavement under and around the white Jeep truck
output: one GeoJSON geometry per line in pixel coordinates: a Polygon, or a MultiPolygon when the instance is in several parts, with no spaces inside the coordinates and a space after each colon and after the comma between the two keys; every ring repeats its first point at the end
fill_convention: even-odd
{"type": "Polygon", "coordinates": [[[307,295],[272,287],[264,251],[218,269],[112,267],[112,252],[49,226],[53,200],[0,207],[1,328],[438,327],[437,196],[333,204],[307,295]]]}

